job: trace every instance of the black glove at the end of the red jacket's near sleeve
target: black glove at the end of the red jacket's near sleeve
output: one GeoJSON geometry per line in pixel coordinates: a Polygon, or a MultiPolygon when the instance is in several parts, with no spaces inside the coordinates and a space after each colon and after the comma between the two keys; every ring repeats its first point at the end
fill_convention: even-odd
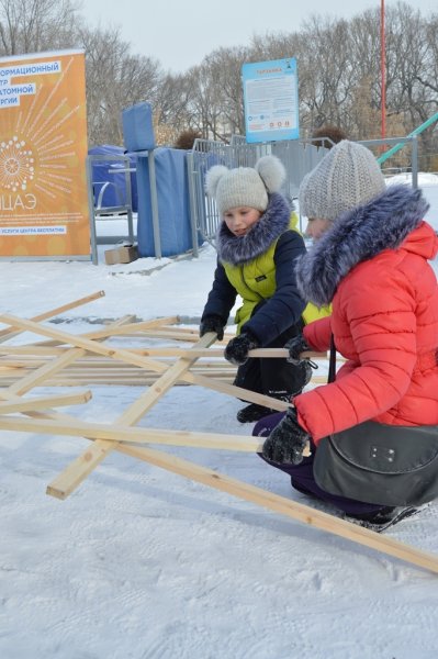
{"type": "Polygon", "coordinates": [[[310,434],[301,427],[294,407],[289,407],[283,418],[265,440],[261,455],[272,462],[300,465],[310,434]]]}

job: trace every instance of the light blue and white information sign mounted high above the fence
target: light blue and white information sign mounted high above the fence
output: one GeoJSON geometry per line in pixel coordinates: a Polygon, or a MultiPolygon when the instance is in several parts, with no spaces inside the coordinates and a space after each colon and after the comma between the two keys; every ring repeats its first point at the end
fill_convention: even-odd
{"type": "Polygon", "coordinates": [[[244,64],[242,79],[246,141],[297,139],[296,60],[289,58],[244,64]]]}

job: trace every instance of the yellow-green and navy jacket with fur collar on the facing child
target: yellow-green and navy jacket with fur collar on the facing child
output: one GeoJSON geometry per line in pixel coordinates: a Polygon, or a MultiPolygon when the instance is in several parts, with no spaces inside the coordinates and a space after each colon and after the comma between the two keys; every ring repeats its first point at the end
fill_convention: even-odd
{"type": "Polygon", "coordinates": [[[202,319],[218,315],[225,325],[239,295],[237,333],[249,331],[265,346],[301,322],[303,313],[307,315],[304,322],[319,317],[316,308],[313,314],[306,308],[296,289],[295,259],[305,254],[296,220],[287,200],[272,193],[267,210],[245,236],[235,236],[221,223],[217,267],[202,319]]]}

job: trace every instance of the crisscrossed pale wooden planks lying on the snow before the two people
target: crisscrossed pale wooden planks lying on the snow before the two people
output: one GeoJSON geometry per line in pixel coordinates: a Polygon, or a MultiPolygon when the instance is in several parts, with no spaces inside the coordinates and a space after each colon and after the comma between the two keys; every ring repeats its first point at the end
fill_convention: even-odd
{"type": "MultiPolygon", "coordinates": [[[[235,369],[223,357],[223,347],[229,336],[224,337],[223,342],[216,342],[221,347],[212,348],[216,340],[215,334],[206,334],[199,338],[195,330],[176,327],[179,320],[176,316],[146,322],[135,322],[133,316],[126,316],[104,330],[80,335],[44,324],[44,321],[103,294],[99,291],[31,320],[10,314],[0,315],[0,322],[5,325],[0,331],[0,429],[70,435],[90,440],[87,450],[48,484],[48,494],[66,499],[105,456],[117,450],[299,522],[438,572],[438,557],[435,555],[217,473],[167,451],[160,451],[159,448],[151,448],[149,445],[173,445],[249,453],[259,451],[261,448],[260,440],[252,436],[136,427],[138,421],[158,400],[178,383],[206,387],[279,411],[285,410],[288,403],[234,387],[231,382],[235,369]],[[10,339],[23,332],[44,337],[44,340],[11,345],[10,339]],[[132,338],[135,346],[124,347],[124,342],[132,338]],[[122,347],[114,345],[121,339],[122,347]],[[150,347],[151,339],[173,344],[177,342],[177,346],[150,347]],[[138,343],[145,340],[149,345],[138,347],[138,343]],[[87,403],[92,395],[89,389],[75,393],[26,395],[38,387],[96,384],[126,384],[142,389],[134,403],[111,424],[82,422],[56,411],[60,406],[87,403]]],[[[258,349],[252,350],[251,356],[284,358],[287,351],[258,349]]],[[[312,357],[326,359],[326,355],[312,357]]],[[[325,381],[325,378],[315,378],[313,382],[321,380],[325,381]]]]}

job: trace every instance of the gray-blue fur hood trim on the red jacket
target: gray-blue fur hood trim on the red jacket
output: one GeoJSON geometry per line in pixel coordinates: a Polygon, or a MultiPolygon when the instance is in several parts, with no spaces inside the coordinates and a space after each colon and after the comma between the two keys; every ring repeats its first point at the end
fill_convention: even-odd
{"type": "Polygon", "coordinates": [[[428,209],[420,190],[391,186],[369,203],[339,215],[296,260],[297,287],[304,299],[318,306],[329,304],[355,266],[398,247],[428,209]]]}

